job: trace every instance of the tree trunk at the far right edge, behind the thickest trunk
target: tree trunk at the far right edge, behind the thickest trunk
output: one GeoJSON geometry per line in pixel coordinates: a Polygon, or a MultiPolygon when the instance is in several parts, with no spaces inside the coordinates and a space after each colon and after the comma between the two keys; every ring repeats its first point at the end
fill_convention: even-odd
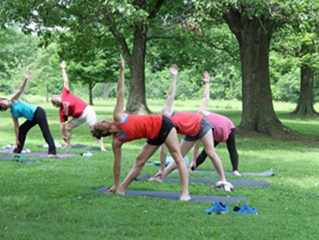
{"type": "Polygon", "coordinates": [[[309,66],[301,67],[300,77],[300,94],[298,104],[293,115],[297,116],[317,116],[318,113],[314,108],[314,70],[309,66]]]}

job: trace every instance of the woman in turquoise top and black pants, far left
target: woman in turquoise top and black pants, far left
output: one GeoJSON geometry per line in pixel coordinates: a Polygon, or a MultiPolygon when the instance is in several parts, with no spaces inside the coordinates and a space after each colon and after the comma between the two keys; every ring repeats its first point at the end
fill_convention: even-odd
{"type": "Polygon", "coordinates": [[[11,117],[14,123],[14,132],[16,135],[16,147],[13,152],[20,153],[23,150],[27,132],[36,124],[39,125],[43,137],[49,146],[49,156],[55,156],[55,144],[49,129],[46,112],[43,108],[28,104],[20,99],[21,94],[27,86],[27,80],[30,78],[31,72],[28,71],[24,76],[24,81],[18,91],[10,100],[0,98],[0,111],[6,111],[10,108],[11,117]],[[24,117],[27,119],[19,126],[18,119],[24,117]]]}

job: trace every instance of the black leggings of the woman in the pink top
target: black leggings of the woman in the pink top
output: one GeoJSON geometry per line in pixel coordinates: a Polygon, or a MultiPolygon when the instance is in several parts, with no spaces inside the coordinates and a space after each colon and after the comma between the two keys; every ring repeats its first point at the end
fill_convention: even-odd
{"type": "MultiPolygon", "coordinates": [[[[217,147],[219,142],[214,141],[214,147],[217,147]]],[[[226,140],[227,149],[229,152],[230,161],[233,166],[233,171],[238,170],[238,153],[236,150],[236,143],[235,143],[235,128],[231,129],[231,133],[226,140]]],[[[201,165],[207,157],[206,151],[203,149],[202,152],[196,158],[196,168],[201,165]]],[[[191,167],[191,170],[195,170],[195,167],[191,167]]]]}

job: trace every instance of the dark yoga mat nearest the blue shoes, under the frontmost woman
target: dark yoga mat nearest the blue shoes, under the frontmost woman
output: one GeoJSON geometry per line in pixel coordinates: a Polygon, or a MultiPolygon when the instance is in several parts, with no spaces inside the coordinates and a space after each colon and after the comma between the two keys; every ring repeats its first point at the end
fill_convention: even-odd
{"type": "MultiPolygon", "coordinates": [[[[90,193],[105,193],[109,187],[103,187],[90,193]]],[[[127,196],[146,196],[150,198],[163,198],[171,200],[179,200],[180,192],[162,192],[162,191],[144,191],[144,190],[125,190],[125,195],[127,196]]],[[[202,201],[205,203],[213,203],[216,201],[222,203],[238,203],[246,199],[246,197],[223,197],[223,196],[213,196],[213,195],[190,195],[190,201],[202,201]]]]}

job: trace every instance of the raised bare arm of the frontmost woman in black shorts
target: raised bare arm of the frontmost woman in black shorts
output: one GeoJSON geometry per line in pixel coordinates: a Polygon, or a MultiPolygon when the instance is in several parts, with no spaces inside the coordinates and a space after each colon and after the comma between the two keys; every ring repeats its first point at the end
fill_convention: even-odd
{"type": "Polygon", "coordinates": [[[120,55],[120,73],[117,81],[116,104],[113,111],[113,118],[117,122],[122,122],[127,115],[124,113],[124,69],[125,62],[122,55],[120,55]]]}

